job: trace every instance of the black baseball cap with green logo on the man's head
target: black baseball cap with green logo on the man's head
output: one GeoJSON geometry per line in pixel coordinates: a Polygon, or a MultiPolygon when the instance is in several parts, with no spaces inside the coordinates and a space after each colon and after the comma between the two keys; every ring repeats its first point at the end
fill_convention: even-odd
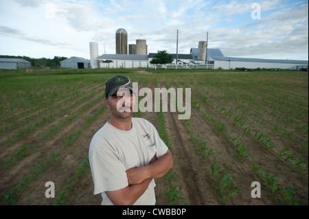
{"type": "Polygon", "coordinates": [[[121,75],[109,78],[105,82],[105,97],[113,95],[113,93],[119,89],[129,89],[130,91],[133,91],[132,80],[126,76],[121,75]]]}

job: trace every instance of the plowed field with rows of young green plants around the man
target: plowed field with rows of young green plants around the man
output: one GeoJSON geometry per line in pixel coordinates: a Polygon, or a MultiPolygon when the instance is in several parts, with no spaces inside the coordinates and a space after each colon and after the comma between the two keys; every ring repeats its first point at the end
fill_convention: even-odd
{"type": "Polygon", "coordinates": [[[156,180],[157,205],[308,205],[308,73],[93,72],[0,78],[0,205],[100,205],[87,156],[110,116],[104,82],[119,72],[153,93],[183,88],[188,97],[191,88],[190,119],[135,113],[174,158],[156,180]],[[49,181],[55,198],[45,196],[49,181]]]}

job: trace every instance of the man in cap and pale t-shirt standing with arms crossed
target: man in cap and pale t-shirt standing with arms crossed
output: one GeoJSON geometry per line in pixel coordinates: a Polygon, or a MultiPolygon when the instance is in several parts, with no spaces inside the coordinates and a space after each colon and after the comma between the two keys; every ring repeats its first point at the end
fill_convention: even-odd
{"type": "Polygon", "coordinates": [[[155,205],[154,178],[163,177],[173,165],[155,126],[133,117],[132,85],[120,75],[105,82],[104,102],[111,119],[89,147],[94,194],[101,194],[102,205],[155,205]]]}

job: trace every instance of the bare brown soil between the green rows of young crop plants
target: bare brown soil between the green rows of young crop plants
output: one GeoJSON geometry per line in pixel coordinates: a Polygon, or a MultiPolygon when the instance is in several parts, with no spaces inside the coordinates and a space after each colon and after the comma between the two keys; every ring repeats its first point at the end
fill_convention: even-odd
{"type": "MultiPolygon", "coordinates": [[[[153,73],[148,71],[137,71],[137,73],[153,75],[153,73]]],[[[194,78],[194,74],[190,74],[190,76],[194,78]]],[[[200,75],[200,73],[198,73],[198,75],[200,75]]],[[[139,75],[133,77],[135,77],[134,79],[136,80],[139,79],[139,75]]],[[[148,87],[152,89],[152,91],[155,89],[154,81],[160,80],[156,77],[157,76],[153,76],[153,78],[148,80],[148,87]]],[[[141,77],[142,82],[139,83],[140,87],[144,86],[143,78],[144,77],[141,77]]],[[[164,81],[162,80],[160,84],[161,87],[163,87],[163,83],[164,81]]],[[[174,87],[172,82],[168,82],[168,84],[170,87],[174,87]]],[[[204,92],[196,84],[197,82],[194,82],[190,85],[192,89],[196,89],[198,92],[204,92]]],[[[97,89],[102,89],[102,85],[100,84],[95,84],[95,86],[97,89]]],[[[182,87],[185,88],[183,85],[182,87]]],[[[85,88],[85,91],[88,92],[90,89],[93,89],[93,87],[85,88]]],[[[211,92],[209,98],[213,98],[214,95],[220,95],[220,89],[214,89],[213,87],[208,87],[207,89],[211,92]]],[[[100,100],[86,111],[83,111],[77,118],[67,124],[65,128],[62,128],[52,135],[52,137],[43,140],[42,134],[49,130],[50,127],[56,126],[58,122],[64,122],[68,115],[73,115],[73,113],[78,112],[82,106],[90,103],[103,94],[104,91],[96,93],[93,97],[82,102],[82,104],[70,108],[69,111],[65,111],[65,113],[61,115],[56,115],[51,122],[46,122],[45,125],[34,129],[32,132],[27,133],[27,135],[24,135],[9,145],[2,143],[0,147],[0,161],[2,162],[12,156],[22,145],[31,145],[34,146],[34,148],[29,148],[27,150],[27,155],[19,158],[16,164],[10,165],[9,168],[0,168],[0,196],[5,196],[11,191],[14,191],[16,185],[21,183],[21,181],[25,181],[25,177],[33,173],[32,170],[37,170],[38,165],[41,165],[43,161],[47,161],[52,153],[56,152],[59,156],[57,156],[50,165],[46,166],[42,174],[38,173],[38,176],[32,179],[29,185],[22,187],[19,190],[18,196],[14,197],[15,205],[52,205],[56,198],[60,196],[62,189],[69,185],[70,179],[76,176],[76,170],[88,155],[89,143],[93,135],[98,129],[104,126],[110,115],[105,108],[103,113],[101,113],[90,126],[85,126],[84,121],[87,119],[87,116],[93,115],[100,109],[102,104],[104,104],[104,101],[100,100]],[[80,135],[69,146],[65,146],[64,140],[73,132],[76,132],[78,128],[82,129],[80,135]],[[54,182],[56,198],[45,197],[45,191],[47,189],[45,183],[47,181],[54,182]]],[[[282,161],[277,159],[276,154],[284,148],[286,141],[283,141],[276,135],[272,135],[271,137],[273,138],[274,144],[278,147],[274,150],[265,150],[258,142],[254,141],[252,136],[247,135],[240,128],[233,126],[233,118],[229,119],[223,117],[219,111],[209,106],[209,104],[202,102],[194,93],[192,93],[192,97],[202,103],[200,108],[194,108],[192,106],[192,114],[190,117],[192,128],[196,135],[201,137],[202,140],[207,141],[209,149],[212,148],[216,153],[214,156],[209,157],[206,164],[203,158],[201,158],[201,155],[198,154],[198,149],[187,131],[185,122],[178,119],[179,113],[164,113],[174,159],[174,167],[171,171],[176,172],[179,176],[174,179],[173,185],[181,185],[181,187],[179,187],[181,196],[187,200],[189,205],[221,205],[217,185],[209,174],[210,165],[214,161],[219,161],[220,166],[232,172],[233,180],[236,181],[238,187],[242,188],[242,192],[229,198],[225,203],[226,205],[279,204],[277,198],[272,198],[268,190],[262,189],[262,198],[251,197],[251,190],[253,189],[251,183],[253,181],[260,181],[257,174],[252,174],[253,169],[251,162],[266,168],[270,176],[278,175],[278,185],[293,185],[297,187],[299,191],[295,193],[295,200],[300,199],[304,204],[308,205],[308,174],[306,178],[299,180],[299,172],[297,172],[297,170],[292,171],[288,163],[282,163],[282,161]],[[242,142],[247,146],[250,154],[253,156],[245,161],[239,161],[238,157],[233,152],[233,147],[226,141],[227,130],[224,130],[218,135],[214,130],[214,124],[205,120],[203,113],[201,113],[202,111],[211,112],[219,122],[225,122],[229,130],[233,130],[233,136],[238,136],[242,139],[242,142]]],[[[80,97],[80,99],[81,98],[82,97],[80,97]]],[[[61,111],[65,106],[73,104],[75,101],[76,100],[61,105],[57,111],[61,111]]],[[[220,103],[216,99],[214,99],[214,101],[218,104],[220,103]]],[[[57,103],[54,104],[56,105],[57,103]]],[[[231,104],[231,102],[229,104],[231,104]]],[[[19,113],[21,114],[21,112],[19,113]]],[[[19,115],[18,121],[21,121],[23,117],[26,116],[29,115],[19,115]]],[[[148,121],[152,122],[152,124],[159,129],[159,118],[157,113],[141,113],[140,117],[148,119],[148,121]]],[[[36,120],[31,121],[31,123],[38,122],[41,118],[42,117],[37,117],[36,120]]],[[[308,118],[306,121],[308,125],[308,118]]],[[[0,142],[5,142],[8,136],[12,136],[23,127],[27,127],[26,124],[0,135],[0,142]]],[[[254,124],[254,128],[264,130],[265,127],[260,124],[254,124]]],[[[308,139],[308,135],[305,137],[308,139]]],[[[299,153],[301,152],[299,147],[296,146],[296,143],[294,146],[291,146],[291,148],[299,153]]],[[[306,153],[303,152],[303,154],[307,154],[306,160],[308,161],[308,146],[306,153]]],[[[157,205],[167,205],[168,202],[163,192],[168,191],[168,185],[164,178],[159,178],[155,181],[157,184],[155,187],[157,205]]],[[[65,200],[68,205],[100,205],[102,201],[101,196],[93,195],[91,171],[88,170],[85,174],[79,176],[71,192],[66,194],[65,200]]],[[[0,205],[10,205],[10,203],[4,198],[0,198],[0,205]]]]}

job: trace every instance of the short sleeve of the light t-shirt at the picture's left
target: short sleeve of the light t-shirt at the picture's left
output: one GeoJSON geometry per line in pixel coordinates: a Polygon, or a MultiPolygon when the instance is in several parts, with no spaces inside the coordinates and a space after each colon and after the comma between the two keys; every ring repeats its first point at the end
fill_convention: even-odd
{"type": "Polygon", "coordinates": [[[89,151],[89,163],[94,183],[94,194],[115,191],[128,186],[126,168],[117,152],[102,139],[91,141],[93,150],[89,151]]]}

